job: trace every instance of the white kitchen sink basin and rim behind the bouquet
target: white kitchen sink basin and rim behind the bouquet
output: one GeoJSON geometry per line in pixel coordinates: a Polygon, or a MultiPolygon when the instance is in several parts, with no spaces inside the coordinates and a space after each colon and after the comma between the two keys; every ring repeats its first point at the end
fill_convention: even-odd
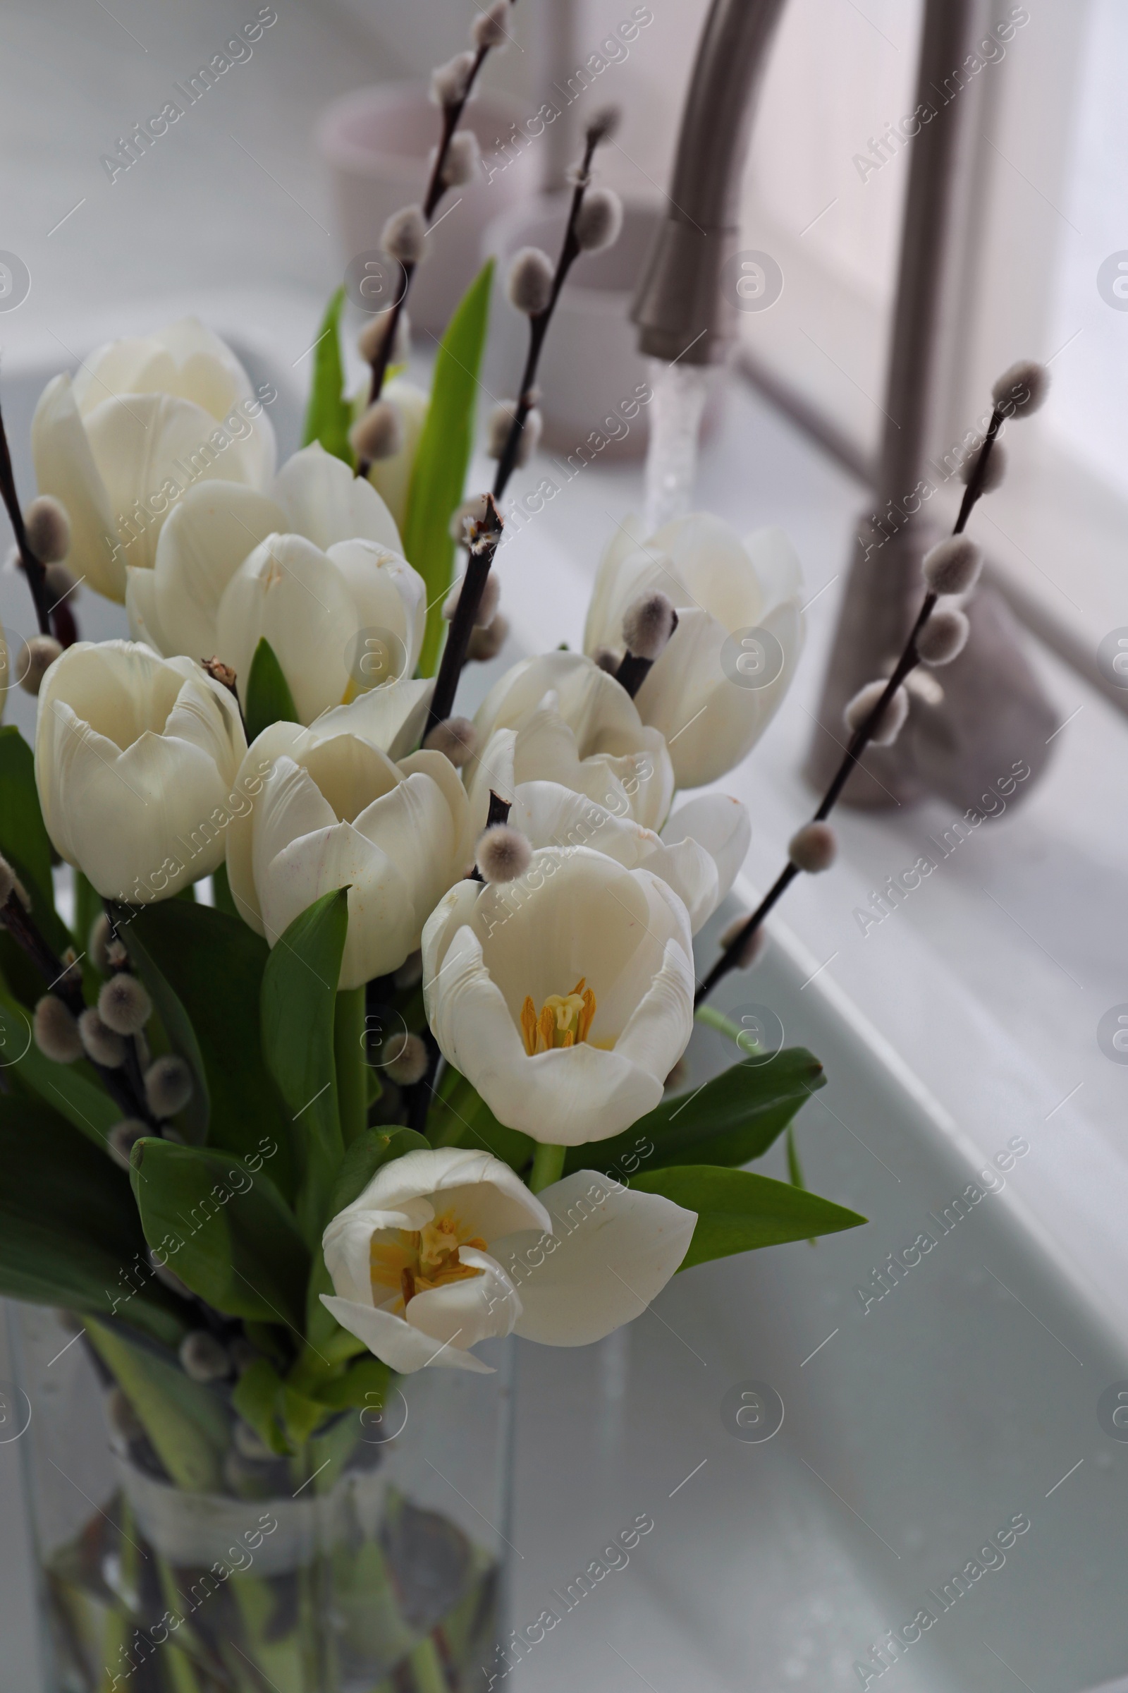
{"type": "MultiPolygon", "coordinates": [[[[293,450],[293,374],[260,347],[238,350],[257,381],[276,381],[271,415],[282,452],[293,450]]],[[[27,423],[47,374],[3,372],[25,493],[27,423]]],[[[528,576],[541,547],[534,530],[521,562],[528,576]]],[[[523,642],[550,640],[538,601],[529,587],[507,603],[514,643],[504,662],[523,642]]],[[[29,631],[27,613],[24,582],[0,577],[0,620],[29,631]]],[[[83,635],[123,631],[120,609],[91,594],[78,615],[83,635]]],[[[34,703],[17,694],[8,720],[30,733],[34,703]]],[[[1123,1310],[1079,1282],[1015,1199],[1023,1158],[1037,1153],[1008,1151],[1021,1126],[979,1131],[988,1155],[1015,1163],[996,1172],[1001,1190],[972,1200],[984,1156],[827,973],[815,973],[822,960],[786,928],[771,933],[756,972],[729,977],[715,1002],[768,1007],[788,1045],[824,1062],[827,1087],[797,1126],[807,1180],[871,1221],[817,1246],[692,1270],[600,1346],[519,1348],[511,1625],[534,1625],[545,1610],[560,1620],[526,1646],[514,1673],[529,1693],[837,1693],[878,1683],[901,1693],[1081,1693],[1108,1683],[1128,1671],[1128,1441],[1109,1410],[1103,1426],[1098,1405],[1118,1383],[1128,1395],[1123,1310]],[[934,1241],[927,1253],[922,1234],[934,1241]],[[920,1258],[896,1282],[886,1270],[883,1292],[874,1273],[891,1253],[920,1258]],[[764,1387],[783,1403],[783,1426],[761,1442],[737,1437],[739,1393],[768,1407],[764,1387]],[[580,1598],[577,1574],[595,1559],[619,1563],[604,1549],[636,1517],[653,1529],[580,1598]],[[1028,1527],[1015,1532],[1015,1519],[1028,1527]],[[989,1537],[994,1552],[983,1551],[989,1537]],[[928,1627],[913,1622],[920,1612],[932,1615],[928,1627]],[[888,1630],[905,1630],[898,1647],[888,1630]],[[866,1661],[868,1681],[854,1668],[866,1661]]],[[[704,957],[710,945],[707,931],[704,957]]],[[[693,1085],[737,1056],[698,1029],[693,1085]]],[[[764,1168],[785,1175],[778,1148],[764,1168]]],[[[0,1446],[2,1693],[34,1686],[17,1453],[0,1446]]],[[[511,1649],[507,1663],[519,1656],[511,1649]]],[[[487,1668],[501,1686],[506,1661],[487,1668]]]]}

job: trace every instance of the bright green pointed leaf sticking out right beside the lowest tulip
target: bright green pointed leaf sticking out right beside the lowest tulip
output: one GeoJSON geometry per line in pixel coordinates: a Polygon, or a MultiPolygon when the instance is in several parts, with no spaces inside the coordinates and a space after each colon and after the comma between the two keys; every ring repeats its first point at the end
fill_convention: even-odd
{"type": "Polygon", "coordinates": [[[634,1175],[631,1187],[641,1194],[661,1194],[675,1205],[697,1212],[697,1227],[682,1270],[709,1263],[710,1258],[813,1239],[815,1234],[835,1234],[866,1222],[856,1210],[751,1170],[676,1165],[634,1175]]]}

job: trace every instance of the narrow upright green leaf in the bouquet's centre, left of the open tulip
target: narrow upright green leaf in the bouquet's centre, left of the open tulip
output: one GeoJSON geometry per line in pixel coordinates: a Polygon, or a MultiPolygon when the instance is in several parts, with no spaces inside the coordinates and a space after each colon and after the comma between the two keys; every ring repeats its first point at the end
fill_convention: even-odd
{"type": "Polygon", "coordinates": [[[321,1238],[345,1151],[337,1104],[333,1024],[348,933],[348,891],[323,894],[279,936],[262,972],[260,1028],[267,1068],[293,1122],[301,1170],[298,1217],[321,1238]]]}

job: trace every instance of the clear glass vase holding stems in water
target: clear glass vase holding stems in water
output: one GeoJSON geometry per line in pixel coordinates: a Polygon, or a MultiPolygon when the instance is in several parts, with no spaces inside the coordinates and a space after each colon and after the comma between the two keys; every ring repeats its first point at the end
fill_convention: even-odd
{"type": "Polygon", "coordinates": [[[458,1693],[502,1634],[512,1361],[169,1485],[59,1314],[12,1305],[49,1693],[458,1693]],[[68,1344],[69,1343],[69,1344],[68,1344]]]}

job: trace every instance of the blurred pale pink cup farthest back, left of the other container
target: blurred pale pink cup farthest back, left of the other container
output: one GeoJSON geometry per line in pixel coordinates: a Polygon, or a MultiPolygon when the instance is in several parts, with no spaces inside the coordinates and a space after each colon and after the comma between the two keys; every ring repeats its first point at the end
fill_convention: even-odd
{"type": "MultiPolygon", "coordinates": [[[[480,264],[482,229],[534,193],[536,151],[502,144],[524,117],[521,107],[484,93],[467,107],[462,129],[479,137],[484,169],[440,207],[426,261],[411,286],[411,322],[441,335],[480,264]]],[[[377,83],[335,100],[318,124],[318,151],[330,168],[345,259],[379,247],[386,218],[423,200],[440,110],[416,83],[377,83]]]]}

